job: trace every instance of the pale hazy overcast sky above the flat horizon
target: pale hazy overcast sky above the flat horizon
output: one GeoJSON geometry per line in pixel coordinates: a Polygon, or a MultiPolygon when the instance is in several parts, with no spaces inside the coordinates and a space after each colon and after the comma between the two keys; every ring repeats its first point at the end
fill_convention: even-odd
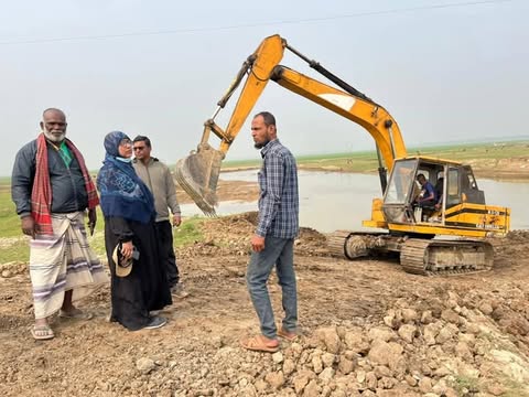
{"type": "MultiPolygon", "coordinates": [[[[527,137],[528,14],[526,0],[4,1],[0,175],[47,107],[65,110],[93,170],[116,129],[149,136],[153,155],[174,164],[274,33],[386,107],[408,147],[527,137]]],[[[281,64],[324,81],[288,52],[281,64]]],[[[251,114],[260,110],[298,155],[375,148],[352,121],[273,82],[251,114]]],[[[249,132],[247,120],[228,160],[258,158],[249,132]]]]}

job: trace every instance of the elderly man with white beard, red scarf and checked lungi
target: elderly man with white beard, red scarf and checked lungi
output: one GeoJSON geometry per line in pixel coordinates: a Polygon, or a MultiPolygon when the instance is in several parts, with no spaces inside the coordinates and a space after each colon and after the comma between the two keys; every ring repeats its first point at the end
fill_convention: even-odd
{"type": "Polygon", "coordinates": [[[35,340],[54,337],[48,319],[56,312],[62,318],[91,318],[73,302],[108,282],[84,225],[87,214],[94,233],[99,204],[85,160],[66,138],[64,112],[50,108],[42,117],[41,133],[19,150],[11,178],[22,232],[31,236],[35,340]]]}

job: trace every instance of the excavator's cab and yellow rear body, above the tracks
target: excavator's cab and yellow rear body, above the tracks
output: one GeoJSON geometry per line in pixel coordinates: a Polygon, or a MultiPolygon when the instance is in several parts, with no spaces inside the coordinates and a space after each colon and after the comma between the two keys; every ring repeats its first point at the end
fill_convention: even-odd
{"type": "Polygon", "coordinates": [[[455,234],[456,228],[457,234],[464,228],[479,234],[486,229],[506,233],[509,226],[506,208],[485,205],[485,193],[477,186],[469,165],[424,157],[395,161],[381,212],[390,230],[402,232],[404,227],[413,234],[455,234]],[[434,198],[427,204],[418,200],[422,191],[419,175],[434,191],[434,198]]]}

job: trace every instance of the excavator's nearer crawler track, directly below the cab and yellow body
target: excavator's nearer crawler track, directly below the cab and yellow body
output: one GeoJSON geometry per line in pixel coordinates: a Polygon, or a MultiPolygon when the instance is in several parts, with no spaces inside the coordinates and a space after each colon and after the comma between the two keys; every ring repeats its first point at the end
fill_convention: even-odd
{"type": "Polygon", "coordinates": [[[487,242],[409,238],[400,250],[403,269],[422,276],[486,271],[493,262],[494,248],[487,242]]]}

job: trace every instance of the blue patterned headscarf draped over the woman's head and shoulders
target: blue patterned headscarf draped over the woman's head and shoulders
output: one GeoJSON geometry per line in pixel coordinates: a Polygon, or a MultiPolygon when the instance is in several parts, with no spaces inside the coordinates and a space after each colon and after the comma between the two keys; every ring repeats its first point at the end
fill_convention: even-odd
{"type": "Polygon", "coordinates": [[[120,161],[119,143],[129,137],[112,131],[105,137],[105,161],[97,175],[102,214],[148,223],[155,215],[154,198],[130,162],[120,161]]]}

